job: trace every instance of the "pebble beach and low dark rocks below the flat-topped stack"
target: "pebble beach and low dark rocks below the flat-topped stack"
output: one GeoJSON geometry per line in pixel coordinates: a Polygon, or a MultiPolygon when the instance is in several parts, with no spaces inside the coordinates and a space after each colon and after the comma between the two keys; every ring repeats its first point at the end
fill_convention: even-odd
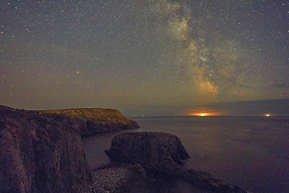
{"type": "Polygon", "coordinates": [[[92,182],[79,185],[78,190],[80,193],[216,193],[220,190],[246,192],[236,185],[213,178],[208,172],[194,172],[197,172],[198,180],[201,179],[204,184],[194,185],[181,175],[160,179],[147,174],[139,164],[110,163],[92,171],[92,182]]]}

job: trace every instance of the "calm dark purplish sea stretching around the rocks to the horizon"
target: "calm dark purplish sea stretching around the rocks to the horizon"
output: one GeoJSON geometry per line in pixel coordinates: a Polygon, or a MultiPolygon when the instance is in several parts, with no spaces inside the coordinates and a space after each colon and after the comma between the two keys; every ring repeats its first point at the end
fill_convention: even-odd
{"type": "MultiPolygon", "coordinates": [[[[289,192],[289,117],[129,117],[141,128],[177,135],[192,157],[190,167],[237,184],[249,192],[289,192]]],[[[123,132],[123,131],[122,131],[123,132]]],[[[109,159],[103,152],[113,136],[82,139],[95,169],[109,159]]]]}

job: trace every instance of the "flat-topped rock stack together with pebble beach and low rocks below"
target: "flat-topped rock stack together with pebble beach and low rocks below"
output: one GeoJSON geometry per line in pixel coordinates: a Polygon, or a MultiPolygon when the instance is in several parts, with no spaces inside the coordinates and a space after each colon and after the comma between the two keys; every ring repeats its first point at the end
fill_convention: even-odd
{"type": "Polygon", "coordinates": [[[113,163],[92,171],[92,183],[81,186],[81,193],[246,193],[237,185],[189,167],[191,157],[180,139],[170,133],[121,133],[113,137],[105,154],[113,163]]]}

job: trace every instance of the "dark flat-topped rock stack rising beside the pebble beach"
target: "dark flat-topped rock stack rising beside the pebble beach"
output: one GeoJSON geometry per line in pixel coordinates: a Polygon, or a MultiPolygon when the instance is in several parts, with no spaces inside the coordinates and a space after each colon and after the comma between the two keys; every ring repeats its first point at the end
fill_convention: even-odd
{"type": "Polygon", "coordinates": [[[114,162],[139,163],[157,176],[171,176],[184,159],[190,158],[180,139],[170,133],[129,132],[116,135],[105,150],[114,162]]]}

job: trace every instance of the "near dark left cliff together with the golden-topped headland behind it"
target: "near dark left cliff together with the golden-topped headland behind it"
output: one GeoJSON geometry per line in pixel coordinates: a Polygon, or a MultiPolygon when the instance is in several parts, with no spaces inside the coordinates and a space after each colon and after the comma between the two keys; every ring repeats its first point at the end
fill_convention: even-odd
{"type": "Polygon", "coordinates": [[[29,111],[0,105],[0,192],[78,192],[92,181],[81,134],[138,127],[115,109],[29,111]]]}

